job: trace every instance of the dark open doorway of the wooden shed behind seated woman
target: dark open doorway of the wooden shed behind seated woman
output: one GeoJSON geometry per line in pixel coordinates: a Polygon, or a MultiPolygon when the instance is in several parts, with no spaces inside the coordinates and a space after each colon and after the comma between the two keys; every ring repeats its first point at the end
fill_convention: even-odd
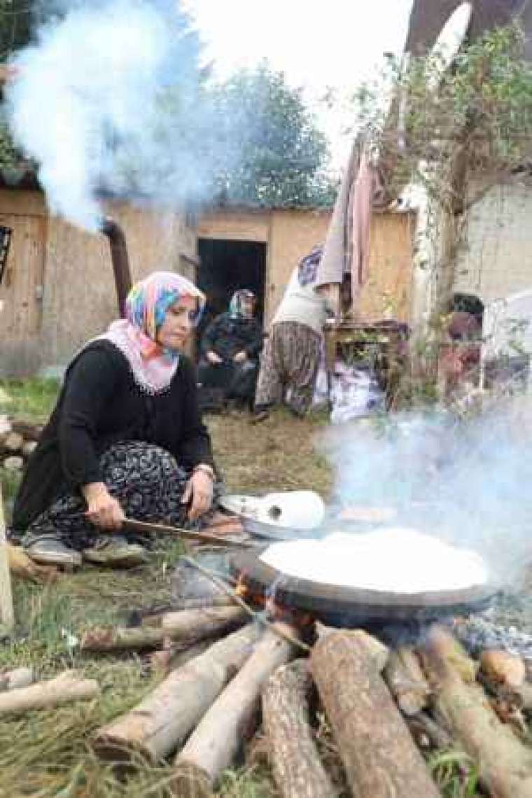
{"type": "Polygon", "coordinates": [[[266,244],[257,241],[199,239],[198,285],[207,295],[207,307],[198,338],[212,318],[228,309],[238,288],[249,288],[257,297],[257,317],[264,313],[266,244]]]}

